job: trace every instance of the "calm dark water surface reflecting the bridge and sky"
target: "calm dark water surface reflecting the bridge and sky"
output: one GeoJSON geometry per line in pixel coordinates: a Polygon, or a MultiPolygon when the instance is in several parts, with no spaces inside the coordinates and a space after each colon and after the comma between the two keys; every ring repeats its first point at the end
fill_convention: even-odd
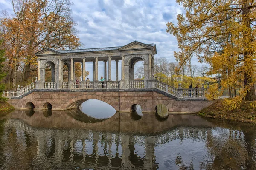
{"type": "Polygon", "coordinates": [[[195,115],[103,119],[79,109],[1,116],[0,170],[42,169],[254,170],[256,127],[195,115]]]}

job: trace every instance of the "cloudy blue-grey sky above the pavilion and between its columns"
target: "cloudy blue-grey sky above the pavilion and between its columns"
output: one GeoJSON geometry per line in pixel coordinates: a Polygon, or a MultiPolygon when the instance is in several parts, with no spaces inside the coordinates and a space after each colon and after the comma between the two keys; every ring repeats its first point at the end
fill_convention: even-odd
{"type": "MultiPolygon", "coordinates": [[[[177,40],[166,33],[166,23],[177,23],[177,14],[184,10],[175,0],[72,0],[73,19],[77,22],[78,37],[83,48],[123,46],[133,41],[154,43],[157,55],[175,62],[174,51],[179,51],[177,40]]],[[[10,0],[0,0],[0,10],[12,15],[10,0]]],[[[192,59],[196,64],[196,59],[192,59]]],[[[135,67],[143,65],[142,62],[135,67]]],[[[119,62],[119,70],[121,62],[119,62]]],[[[86,63],[92,79],[92,63],[86,63]]],[[[99,62],[99,77],[104,75],[99,62]]],[[[135,68],[136,72],[136,68],[135,68]]],[[[121,71],[119,71],[119,77],[121,71]]],[[[115,63],[111,62],[111,77],[115,77],[115,63]]]]}

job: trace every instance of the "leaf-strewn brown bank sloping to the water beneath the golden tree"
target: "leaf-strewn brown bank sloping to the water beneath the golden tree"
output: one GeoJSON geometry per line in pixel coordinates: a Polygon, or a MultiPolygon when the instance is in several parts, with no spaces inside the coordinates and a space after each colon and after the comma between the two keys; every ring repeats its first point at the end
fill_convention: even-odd
{"type": "Polygon", "coordinates": [[[250,107],[250,101],[243,101],[241,107],[234,111],[225,110],[222,101],[218,100],[196,114],[207,118],[256,124],[256,108],[250,107]]]}

